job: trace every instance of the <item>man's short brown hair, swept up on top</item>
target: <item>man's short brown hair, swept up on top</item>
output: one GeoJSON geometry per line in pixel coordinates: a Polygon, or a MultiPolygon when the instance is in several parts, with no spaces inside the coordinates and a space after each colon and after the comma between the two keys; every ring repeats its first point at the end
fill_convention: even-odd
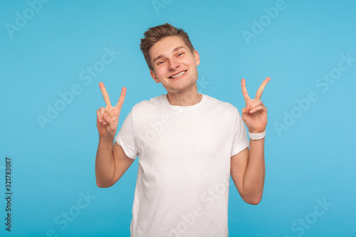
{"type": "Polygon", "coordinates": [[[169,23],[148,28],[148,30],[144,33],[144,36],[144,38],[141,38],[140,48],[143,56],[145,56],[146,63],[150,70],[153,70],[150,58],[150,48],[165,37],[179,36],[182,38],[184,43],[187,44],[189,50],[192,51],[192,53],[194,52],[194,47],[192,42],[189,40],[188,34],[182,28],[176,28],[169,23]]]}

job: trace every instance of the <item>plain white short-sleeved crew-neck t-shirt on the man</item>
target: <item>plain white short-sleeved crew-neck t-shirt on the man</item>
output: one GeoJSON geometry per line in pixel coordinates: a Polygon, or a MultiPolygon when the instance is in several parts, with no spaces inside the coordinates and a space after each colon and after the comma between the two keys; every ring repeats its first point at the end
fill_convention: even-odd
{"type": "Polygon", "coordinates": [[[229,236],[231,157],[248,147],[236,107],[209,95],[170,105],[167,95],[132,107],[115,138],[139,157],[132,237],[229,236]]]}

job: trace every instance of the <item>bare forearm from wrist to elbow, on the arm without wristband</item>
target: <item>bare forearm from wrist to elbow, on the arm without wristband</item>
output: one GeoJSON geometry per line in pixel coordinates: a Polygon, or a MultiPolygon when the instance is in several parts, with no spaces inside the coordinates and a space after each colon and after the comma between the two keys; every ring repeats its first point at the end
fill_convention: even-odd
{"type": "Polygon", "coordinates": [[[96,183],[100,187],[111,186],[115,176],[112,142],[113,138],[99,138],[98,152],[95,159],[95,177],[96,183]]]}

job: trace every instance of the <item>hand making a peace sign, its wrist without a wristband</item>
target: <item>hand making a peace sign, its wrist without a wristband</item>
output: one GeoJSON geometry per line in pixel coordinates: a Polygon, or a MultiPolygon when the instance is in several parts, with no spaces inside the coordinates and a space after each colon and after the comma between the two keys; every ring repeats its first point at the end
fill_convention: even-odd
{"type": "Polygon", "coordinates": [[[99,86],[101,93],[103,93],[106,107],[100,107],[100,109],[96,111],[96,125],[98,127],[100,137],[113,139],[116,134],[117,124],[119,123],[121,107],[125,101],[126,88],[122,88],[119,101],[115,107],[112,107],[108,92],[106,91],[104,84],[99,83],[99,86]]]}

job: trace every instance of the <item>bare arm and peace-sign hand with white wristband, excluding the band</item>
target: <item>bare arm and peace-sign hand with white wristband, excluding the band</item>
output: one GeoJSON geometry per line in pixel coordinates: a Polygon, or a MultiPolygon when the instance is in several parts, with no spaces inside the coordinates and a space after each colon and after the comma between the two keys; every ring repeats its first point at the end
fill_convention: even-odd
{"type": "MultiPolygon", "coordinates": [[[[242,94],[246,107],[241,111],[249,132],[261,133],[266,130],[267,108],[261,102],[263,89],[271,78],[263,80],[256,93],[256,98],[249,98],[245,80],[241,81],[242,94]]],[[[265,139],[250,139],[250,149],[246,148],[231,157],[231,177],[242,199],[248,204],[258,204],[262,199],[263,185],[266,173],[264,158],[265,139]]]]}

